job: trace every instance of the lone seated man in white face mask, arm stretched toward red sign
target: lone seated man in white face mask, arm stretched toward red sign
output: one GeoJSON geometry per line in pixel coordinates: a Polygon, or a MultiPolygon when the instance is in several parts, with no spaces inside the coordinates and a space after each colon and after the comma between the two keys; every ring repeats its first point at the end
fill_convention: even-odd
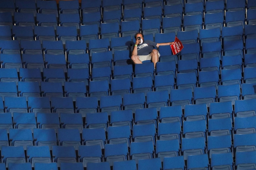
{"type": "Polygon", "coordinates": [[[132,48],[132,56],[131,59],[134,64],[142,64],[142,61],[151,60],[154,63],[154,67],[156,68],[156,63],[160,57],[159,52],[154,49],[159,46],[166,46],[174,44],[174,42],[170,43],[155,43],[150,40],[144,40],[143,35],[141,33],[135,34],[135,47],[132,48]]]}

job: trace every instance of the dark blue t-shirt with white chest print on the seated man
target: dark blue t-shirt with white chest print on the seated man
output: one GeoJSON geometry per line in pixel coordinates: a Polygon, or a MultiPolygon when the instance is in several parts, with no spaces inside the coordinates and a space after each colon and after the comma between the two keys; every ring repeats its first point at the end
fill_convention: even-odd
{"type": "Polygon", "coordinates": [[[145,40],[142,44],[138,44],[137,46],[138,56],[148,55],[156,47],[157,47],[157,43],[150,40],[145,40]]]}

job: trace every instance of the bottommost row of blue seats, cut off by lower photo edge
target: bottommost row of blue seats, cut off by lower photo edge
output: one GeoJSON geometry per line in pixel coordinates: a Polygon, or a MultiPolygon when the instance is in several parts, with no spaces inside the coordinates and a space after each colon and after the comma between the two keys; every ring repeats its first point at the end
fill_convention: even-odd
{"type": "MultiPolygon", "coordinates": [[[[246,162],[254,162],[254,161],[246,161],[250,156],[253,158],[255,157],[255,152],[241,152],[237,154],[239,160],[236,161],[236,166],[238,168],[243,166],[245,163],[246,166],[249,166],[249,163],[246,162]]],[[[230,154],[214,154],[213,160],[209,160],[206,154],[197,155],[197,156],[189,156],[188,166],[185,166],[184,160],[182,160],[182,156],[179,157],[166,157],[164,158],[163,165],[159,158],[147,158],[147,159],[139,159],[138,160],[138,170],[146,170],[146,169],[170,169],[170,168],[180,168],[180,169],[187,169],[187,168],[200,168],[203,169],[210,169],[210,168],[230,168],[235,169],[235,166],[232,164],[233,158],[231,158],[230,154]],[[226,156],[226,158],[225,158],[226,156]],[[226,163],[228,165],[226,165],[226,163]],[[224,165],[225,164],[225,165],[224,165]],[[163,168],[162,168],[163,167],[163,168]],[[185,168],[184,168],[185,167],[185,168]]],[[[1,170],[5,170],[4,163],[1,163],[1,170]]],[[[22,167],[24,170],[31,170],[31,163],[10,163],[10,170],[17,170],[18,167],[22,167]]],[[[57,170],[58,166],[57,163],[35,163],[35,170],[41,170],[45,168],[51,168],[53,170],[57,170]]],[[[61,163],[61,170],[64,169],[78,169],[83,170],[83,163],[61,163]],[[66,166],[66,167],[65,167],[66,166]]],[[[109,162],[101,162],[101,163],[88,163],[88,170],[93,169],[105,169],[110,170],[110,163],[109,162]]],[[[137,170],[137,165],[135,160],[129,161],[115,161],[113,163],[113,170],[118,169],[128,169],[128,170],[137,170]],[[124,168],[125,166],[125,168],[124,168]]]]}

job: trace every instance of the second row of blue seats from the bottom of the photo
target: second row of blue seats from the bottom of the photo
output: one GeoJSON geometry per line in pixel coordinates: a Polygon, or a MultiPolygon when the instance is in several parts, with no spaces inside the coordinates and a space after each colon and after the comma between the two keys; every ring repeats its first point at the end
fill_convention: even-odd
{"type": "MultiPolygon", "coordinates": [[[[30,129],[23,129],[23,130],[20,130],[20,132],[23,131],[24,133],[26,130],[30,131],[30,129]]],[[[46,130],[49,131],[49,129],[46,129],[46,130]]],[[[23,135],[25,135],[25,133],[23,135]]],[[[145,158],[146,159],[154,158],[155,160],[158,159],[158,161],[161,164],[161,161],[164,162],[166,157],[174,157],[174,159],[178,159],[182,162],[187,161],[187,163],[183,165],[189,166],[189,161],[190,161],[189,159],[190,159],[190,156],[192,155],[194,156],[196,155],[200,158],[204,158],[208,162],[209,158],[215,159],[216,155],[221,156],[221,154],[223,154],[222,156],[228,157],[228,159],[225,159],[224,161],[227,164],[224,164],[224,165],[232,165],[231,166],[231,169],[232,169],[233,166],[235,166],[233,164],[233,157],[234,157],[233,155],[235,155],[236,166],[238,166],[238,164],[242,162],[246,163],[245,161],[240,160],[239,158],[240,154],[243,156],[246,156],[246,158],[247,156],[252,156],[252,158],[255,158],[255,150],[251,151],[251,150],[248,150],[248,148],[247,150],[244,149],[244,146],[246,146],[247,144],[255,143],[252,141],[253,139],[255,139],[255,133],[241,134],[241,135],[235,134],[234,135],[234,148],[235,148],[234,152],[235,153],[233,153],[234,148],[231,144],[229,135],[209,136],[208,139],[210,143],[206,145],[204,141],[204,137],[182,138],[181,147],[179,146],[178,140],[156,140],[156,143],[155,143],[156,149],[154,149],[154,143],[152,141],[131,142],[130,151],[128,150],[128,146],[126,143],[105,144],[104,156],[102,156],[102,154],[99,154],[99,153],[102,153],[100,145],[78,144],[76,147],[78,150],[79,157],[75,154],[75,147],[72,145],[69,145],[69,146],[53,145],[52,156],[50,154],[50,150],[48,146],[43,146],[43,145],[39,145],[39,146],[28,145],[25,148],[23,148],[23,146],[16,146],[16,147],[2,146],[1,161],[2,163],[6,163],[7,167],[10,165],[9,163],[12,159],[14,159],[12,161],[16,163],[24,163],[26,162],[24,150],[26,150],[26,153],[29,156],[29,158],[27,159],[27,162],[31,162],[32,167],[34,167],[36,162],[41,162],[41,163],[56,162],[58,167],[61,166],[61,162],[67,162],[67,163],[82,162],[83,167],[86,167],[89,165],[89,162],[92,162],[92,160],[89,158],[92,156],[94,157],[95,162],[106,161],[109,163],[110,166],[114,165],[114,161],[126,161],[130,159],[134,160],[135,164],[136,163],[138,164],[140,159],[145,159],[145,158]],[[195,145],[191,146],[191,142],[194,142],[195,145]],[[218,149],[225,149],[226,151],[218,152],[218,149]],[[14,150],[16,154],[13,153],[14,150]],[[216,153],[219,153],[219,154],[216,154],[216,153]],[[44,159],[38,159],[40,157],[44,157],[44,159]],[[230,160],[232,161],[229,162],[230,160]]],[[[54,142],[54,139],[52,140],[53,141],[49,141],[49,142],[54,142]]],[[[74,142],[78,142],[78,141],[75,141],[74,139],[74,142]]],[[[86,141],[86,142],[90,142],[90,141],[86,141]]],[[[63,141],[63,143],[65,143],[65,141],[63,141]]],[[[205,163],[204,159],[200,159],[200,161],[205,163]]],[[[249,163],[253,163],[253,161],[249,163]]],[[[207,163],[207,165],[209,166],[209,162],[207,163]]],[[[203,166],[203,167],[208,167],[208,166],[203,166]]],[[[244,166],[249,166],[249,164],[248,165],[244,164],[244,166]]]]}

